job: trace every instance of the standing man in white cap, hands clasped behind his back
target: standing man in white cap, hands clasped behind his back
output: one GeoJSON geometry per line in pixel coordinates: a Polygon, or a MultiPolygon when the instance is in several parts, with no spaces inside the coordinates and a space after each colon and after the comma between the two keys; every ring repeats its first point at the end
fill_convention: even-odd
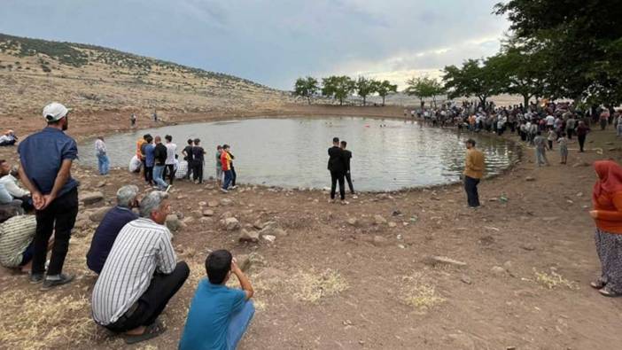
{"type": "Polygon", "coordinates": [[[42,291],[67,284],[74,275],[63,274],[63,264],[71,230],[78,214],[78,182],[71,177],[71,166],[78,158],[75,140],[66,136],[69,110],[56,102],[43,108],[47,128],[28,136],[19,144],[19,178],[30,191],[36,211],[33,265],[30,283],[43,282],[42,291]],[[45,273],[48,240],[54,231],[50,266],[45,273]]]}

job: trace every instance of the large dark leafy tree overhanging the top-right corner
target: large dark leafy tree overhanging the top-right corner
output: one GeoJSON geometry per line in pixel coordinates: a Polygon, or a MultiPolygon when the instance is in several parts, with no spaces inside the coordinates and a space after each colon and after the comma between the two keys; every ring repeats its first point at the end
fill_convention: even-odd
{"type": "Polygon", "coordinates": [[[553,97],[622,102],[622,4],[619,0],[509,0],[495,6],[510,30],[549,59],[553,97]]]}

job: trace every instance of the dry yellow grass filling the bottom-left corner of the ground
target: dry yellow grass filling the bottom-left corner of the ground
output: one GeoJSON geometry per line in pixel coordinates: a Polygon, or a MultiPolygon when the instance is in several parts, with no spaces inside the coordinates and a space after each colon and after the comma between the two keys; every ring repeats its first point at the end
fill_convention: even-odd
{"type": "Polygon", "coordinates": [[[0,294],[0,300],[0,347],[39,349],[71,344],[78,348],[97,334],[85,295],[60,298],[52,293],[9,290],[0,294]]]}

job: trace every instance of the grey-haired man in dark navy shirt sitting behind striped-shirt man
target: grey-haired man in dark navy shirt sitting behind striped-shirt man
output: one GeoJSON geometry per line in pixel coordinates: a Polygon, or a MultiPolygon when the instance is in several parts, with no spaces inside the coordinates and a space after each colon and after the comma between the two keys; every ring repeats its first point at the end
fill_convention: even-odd
{"type": "Polygon", "coordinates": [[[138,219],[138,215],[132,212],[132,208],[138,207],[138,192],[135,185],[121,187],[117,191],[117,206],[110,209],[97,226],[87,253],[87,266],[96,274],[102,272],[105,260],[113,249],[114,240],[123,226],[138,219]]]}

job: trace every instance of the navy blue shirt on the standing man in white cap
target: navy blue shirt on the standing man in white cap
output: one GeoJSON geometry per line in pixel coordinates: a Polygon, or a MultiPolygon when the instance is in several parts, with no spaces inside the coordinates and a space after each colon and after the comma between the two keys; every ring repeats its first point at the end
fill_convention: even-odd
{"type": "MultiPolygon", "coordinates": [[[[78,158],[78,146],[75,140],[66,136],[58,128],[43,128],[36,134],[27,136],[18,146],[19,161],[35,187],[42,194],[50,194],[63,160],[78,158]]],[[[58,197],[78,187],[78,182],[71,176],[58,197]]]]}

